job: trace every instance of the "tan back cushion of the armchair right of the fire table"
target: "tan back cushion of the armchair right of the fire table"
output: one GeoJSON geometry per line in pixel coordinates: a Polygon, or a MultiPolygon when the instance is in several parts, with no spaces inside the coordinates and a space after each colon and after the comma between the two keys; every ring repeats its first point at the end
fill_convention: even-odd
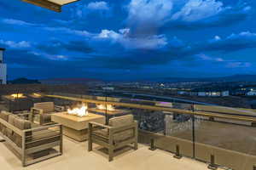
{"type": "Polygon", "coordinates": [[[123,127],[126,125],[130,125],[133,121],[132,115],[125,115],[125,116],[118,116],[109,119],[109,126],[110,127],[123,127]]]}

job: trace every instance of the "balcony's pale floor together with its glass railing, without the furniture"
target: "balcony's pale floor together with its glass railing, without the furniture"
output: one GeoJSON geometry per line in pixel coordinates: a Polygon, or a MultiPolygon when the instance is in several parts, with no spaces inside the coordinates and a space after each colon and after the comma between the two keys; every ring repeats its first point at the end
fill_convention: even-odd
{"type": "MultiPolygon", "coordinates": [[[[88,152],[87,142],[64,137],[62,156],[39,162],[29,169],[70,169],[86,165],[94,169],[199,170],[211,165],[253,170],[256,164],[254,110],[84,94],[47,92],[40,95],[63,107],[87,104],[88,111],[105,116],[107,122],[113,116],[132,114],[138,122],[139,147],[138,150],[122,148],[114,160],[108,162],[108,152],[101,146],[94,145],[93,151],[88,152]]],[[[21,168],[19,159],[6,144],[0,147],[4,150],[0,153],[0,163],[9,169],[21,168]]]]}

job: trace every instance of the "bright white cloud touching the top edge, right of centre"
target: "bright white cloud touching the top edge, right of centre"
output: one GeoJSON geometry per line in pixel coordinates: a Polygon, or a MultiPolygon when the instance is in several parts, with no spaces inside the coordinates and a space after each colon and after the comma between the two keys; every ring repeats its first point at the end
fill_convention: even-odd
{"type": "MultiPolygon", "coordinates": [[[[189,0],[180,11],[172,15],[172,20],[196,21],[219,14],[225,8],[216,0],[189,0]]],[[[229,7],[227,7],[229,8],[229,7]]]]}

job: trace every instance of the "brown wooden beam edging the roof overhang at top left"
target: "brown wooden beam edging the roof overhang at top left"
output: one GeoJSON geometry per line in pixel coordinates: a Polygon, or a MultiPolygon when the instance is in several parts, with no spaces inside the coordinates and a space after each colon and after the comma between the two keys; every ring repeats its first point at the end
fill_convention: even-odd
{"type": "Polygon", "coordinates": [[[53,10],[55,12],[61,12],[61,5],[57,3],[52,3],[48,0],[22,0],[26,3],[32,3],[39,7],[48,8],[49,10],[53,10]]]}

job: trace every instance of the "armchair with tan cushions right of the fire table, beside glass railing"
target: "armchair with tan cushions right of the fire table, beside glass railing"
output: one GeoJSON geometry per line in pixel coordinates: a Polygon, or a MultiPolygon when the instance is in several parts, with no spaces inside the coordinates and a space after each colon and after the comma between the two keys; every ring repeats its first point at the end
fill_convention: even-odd
{"type": "Polygon", "coordinates": [[[113,161],[113,151],[127,144],[134,144],[137,150],[137,122],[132,115],[109,119],[109,124],[89,122],[88,151],[96,143],[108,148],[108,160],[113,161]]]}

